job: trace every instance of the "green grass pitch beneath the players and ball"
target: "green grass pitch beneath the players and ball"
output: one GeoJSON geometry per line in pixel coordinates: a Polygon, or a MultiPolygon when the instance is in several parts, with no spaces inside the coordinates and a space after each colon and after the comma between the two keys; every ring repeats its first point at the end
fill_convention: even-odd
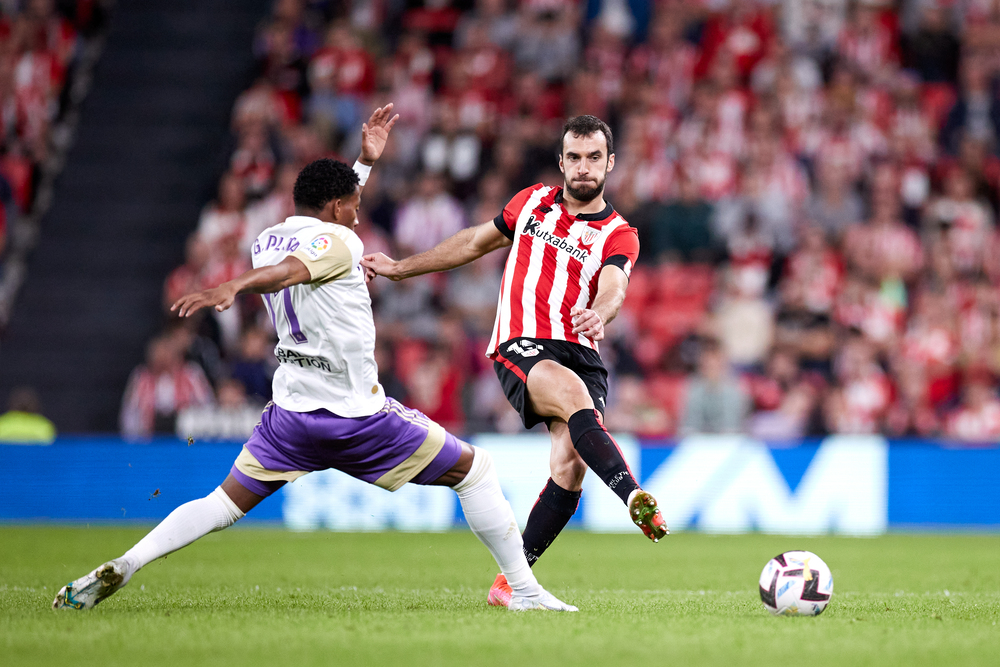
{"type": "Polygon", "coordinates": [[[0,664],[998,665],[1000,537],[877,539],[568,531],[535,571],[578,614],[486,605],[496,568],[470,533],[237,527],[148,566],[93,611],[59,586],[135,528],[0,527],[0,664]],[[757,577],[818,553],[834,597],[774,618],[757,577]]]}

